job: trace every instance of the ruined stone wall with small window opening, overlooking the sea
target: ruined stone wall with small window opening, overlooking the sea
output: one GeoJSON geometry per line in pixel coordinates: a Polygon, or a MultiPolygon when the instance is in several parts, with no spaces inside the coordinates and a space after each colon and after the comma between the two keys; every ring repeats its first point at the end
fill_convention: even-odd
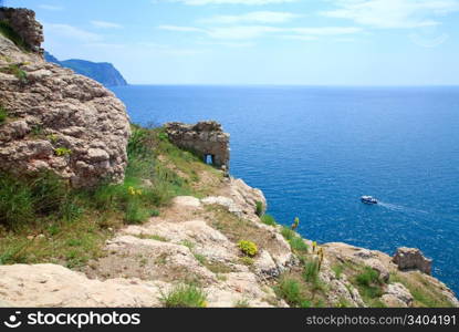
{"type": "Polygon", "coordinates": [[[195,125],[174,122],[165,127],[171,143],[191,151],[202,160],[206,156],[212,156],[213,166],[229,170],[230,135],[223,132],[221,124],[215,121],[199,122],[195,125]]]}

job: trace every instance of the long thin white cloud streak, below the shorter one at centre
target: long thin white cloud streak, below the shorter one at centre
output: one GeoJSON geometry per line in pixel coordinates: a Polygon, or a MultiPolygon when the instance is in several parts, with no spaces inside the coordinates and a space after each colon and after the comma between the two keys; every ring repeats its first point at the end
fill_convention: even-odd
{"type": "Polygon", "coordinates": [[[323,27],[323,28],[278,28],[270,25],[236,25],[225,28],[201,29],[195,27],[160,25],[161,30],[174,32],[195,32],[202,33],[216,40],[251,40],[270,34],[283,33],[294,35],[295,39],[307,39],[309,37],[323,35],[348,35],[362,31],[361,28],[354,27],[323,27]]]}

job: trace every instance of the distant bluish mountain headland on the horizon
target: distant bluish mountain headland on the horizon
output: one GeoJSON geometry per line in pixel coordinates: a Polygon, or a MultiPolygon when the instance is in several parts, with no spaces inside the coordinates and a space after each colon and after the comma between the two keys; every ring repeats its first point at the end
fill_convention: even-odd
{"type": "Polygon", "coordinates": [[[70,68],[75,73],[91,77],[105,86],[127,85],[126,80],[108,62],[91,62],[86,60],[71,59],[60,61],[49,52],[44,52],[44,59],[48,62],[56,63],[61,66],[70,68]]]}

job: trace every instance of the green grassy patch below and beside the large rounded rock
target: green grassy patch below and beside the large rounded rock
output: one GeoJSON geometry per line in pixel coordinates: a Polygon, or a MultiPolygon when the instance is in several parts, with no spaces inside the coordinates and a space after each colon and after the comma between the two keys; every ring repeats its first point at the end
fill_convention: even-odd
{"type": "Polygon", "coordinates": [[[133,126],[126,176],[118,185],[76,190],[52,174],[0,173],[0,262],[79,268],[103,256],[105,240],[123,225],[147,221],[177,195],[197,195],[158,156],[171,154],[184,168],[211,167],[160,138],[161,133],[133,126]]]}

